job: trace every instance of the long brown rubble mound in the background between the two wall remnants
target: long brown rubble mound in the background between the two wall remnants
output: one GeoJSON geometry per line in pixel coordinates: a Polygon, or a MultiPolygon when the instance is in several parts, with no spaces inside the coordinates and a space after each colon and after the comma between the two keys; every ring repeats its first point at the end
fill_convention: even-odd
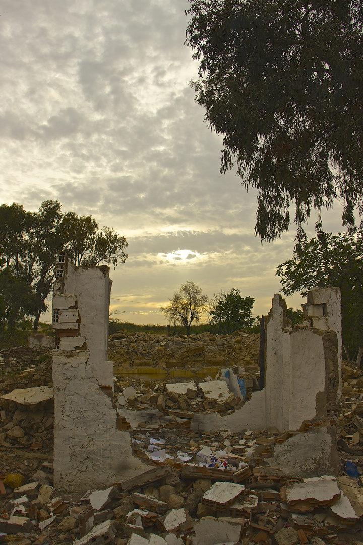
{"type": "Polygon", "coordinates": [[[119,331],[109,336],[109,359],[116,366],[242,366],[258,369],[260,335],[174,335],[119,331]]]}

